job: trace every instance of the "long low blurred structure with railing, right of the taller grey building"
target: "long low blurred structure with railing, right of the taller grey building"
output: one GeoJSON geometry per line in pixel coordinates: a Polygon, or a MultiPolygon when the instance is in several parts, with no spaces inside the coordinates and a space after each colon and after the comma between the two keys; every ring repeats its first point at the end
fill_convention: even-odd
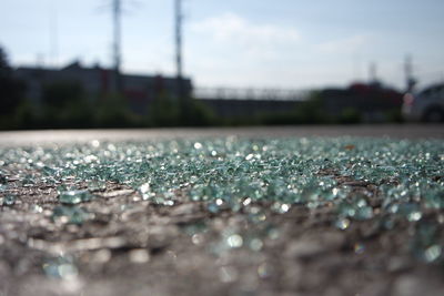
{"type": "Polygon", "coordinates": [[[354,83],[341,89],[310,91],[196,88],[193,96],[225,119],[263,114],[285,115],[297,112],[312,101],[316,112],[323,114],[324,120],[356,114],[362,122],[384,122],[387,116],[401,110],[403,96],[402,93],[385,88],[376,79],[375,70],[372,71],[370,83],[354,83]]]}

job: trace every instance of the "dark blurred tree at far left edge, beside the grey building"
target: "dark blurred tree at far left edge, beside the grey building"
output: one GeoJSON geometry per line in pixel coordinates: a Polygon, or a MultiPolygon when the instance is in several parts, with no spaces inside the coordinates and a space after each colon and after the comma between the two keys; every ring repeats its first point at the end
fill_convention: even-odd
{"type": "Polygon", "coordinates": [[[23,95],[24,83],[13,76],[7,54],[0,47],[0,114],[13,115],[23,95]]]}

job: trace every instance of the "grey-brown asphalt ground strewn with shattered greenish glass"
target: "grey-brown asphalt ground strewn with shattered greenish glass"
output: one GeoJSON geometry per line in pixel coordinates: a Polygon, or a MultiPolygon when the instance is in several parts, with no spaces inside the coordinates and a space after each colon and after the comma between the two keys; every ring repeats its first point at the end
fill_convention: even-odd
{"type": "MultiPolygon", "coordinates": [[[[241,140],[239,151],[225,144],[215,149],[218,161],[213,152],[198,157],[186,146],[179,154],[158,155],[147,153],[150,145],[130,145],[144,155],[135,160],[129,156],[133,151],[121,149],[125,143],[115,145],[118,154],[101,149],[91,154],[94,145],[82,150],[70,143],[224,136],[442,140],[443,127],[0,132],[0,296],[441,296],[443,141],[410,146],[384,140],[295,140],[282,142],[313,145],[300,145],[297,153],[292,146],[264,145],[255,156],[253,145],[245,145],[254,141],[241,140]],[[331,144],[335,147],[329,153],[331,144]],[[44,145],[49,149],[42,154],[44,145]],[[31,149],[14,149],[21,146],[31,149]],[[322,151],[326,154],[320,157],[322,151]],[[91,180],[94,174],[105,181],[91,180]],[[115,181],[119,175],[125,176],[122,182],[115,181]],[[131,180],[150,183],[135,188],[131,180]],[[325,186],[336,197],[326,195],[325,186]],[[290,190],[302,200],[287,203],[294,197],[285,195],[290,190]],[[329,202],[320,200],[324,194],[329,202]]],[[[189,147],[202,149],[196,144],[189,147]]]]}

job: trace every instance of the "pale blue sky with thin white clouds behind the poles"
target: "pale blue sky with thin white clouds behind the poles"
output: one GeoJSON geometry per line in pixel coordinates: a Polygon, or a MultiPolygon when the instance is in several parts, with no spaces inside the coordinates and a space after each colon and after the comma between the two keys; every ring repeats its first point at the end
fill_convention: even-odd
{"type": "MultiPolygon", "coordinates": [[[[0,0],[12,65],[112,64],[111,0],[0,0]]],[[[174,74],[173,0],[122,0],[122,69],[174,74]]],[[[201,88],[444,80],[443,0],[183,0],[184,73],[201,88]]]]}

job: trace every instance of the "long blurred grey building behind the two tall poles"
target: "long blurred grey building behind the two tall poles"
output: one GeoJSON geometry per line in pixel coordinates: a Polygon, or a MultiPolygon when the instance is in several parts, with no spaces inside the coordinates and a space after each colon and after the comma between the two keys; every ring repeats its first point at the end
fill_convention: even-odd
{"type": "MultiPolygon", "coordinates": [[[[26,82],[27,96],[39,104],[44,86],[60,82],[79,83],[92,99],[105,98],[108,93],[115,93],[112,85],[113,71],[114,69],[105,69],[100,65],[83,67],[79,61],[74,61],[61,69],[20,67],[16,69],[14,74],[26,82]]],[[[175,78],[121,74],[120,79],[123,85],[121,93],[129,100],[131,109],[139,114],[144,114],[154,99],[174,98],[178,92],[175,78]]],[[[184,92],[191,95],[191,80],[184,78],[183,85],[184,92]]]]}

